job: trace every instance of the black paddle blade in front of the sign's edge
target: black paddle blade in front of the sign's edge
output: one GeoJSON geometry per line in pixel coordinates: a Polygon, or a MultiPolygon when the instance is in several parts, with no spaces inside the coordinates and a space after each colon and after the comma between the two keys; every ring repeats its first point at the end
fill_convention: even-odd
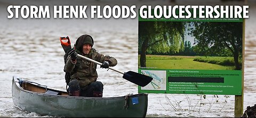
{"type": "Polygon", "coordinates": [[[141,87],[145,87],[146,85],[148,85],[149,82],[153,80],[153,78],[147,75],[140,74],[133,71],[125,72],[123,75],[123,78],[141,87]]]}

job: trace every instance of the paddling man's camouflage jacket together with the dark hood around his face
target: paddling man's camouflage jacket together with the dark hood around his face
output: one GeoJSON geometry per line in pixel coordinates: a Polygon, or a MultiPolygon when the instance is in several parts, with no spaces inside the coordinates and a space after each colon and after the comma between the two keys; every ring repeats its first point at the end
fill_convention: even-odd
{"type": "MultiPolygon", "coordinates": [[[[76,52],[80,55],[86,56],[95,60],[97,62],[103,63],[104,61],[109,61],[109,66],[115,66],[117,61],[114,57],[110,57],[108,55],[103,55],[97,52],[94,48],[91,48],[89,54],[85,55],[83,53],[83,45],[90,44],[93,46],[93,38],[90,35],[82,35],[76,40],[75,49],[76,52]]],[[[73,64],[71,62],[70,55],[67,57],[67,62],[65,64],[65,72],[69,72],[71,74],[72,79],[78,79],[79,86],[85,87],[92,82],[97,81],[98,74],[96,71],[97,64],[84,60],[83,58],[77,57],[76,63],[73,64]]]]}

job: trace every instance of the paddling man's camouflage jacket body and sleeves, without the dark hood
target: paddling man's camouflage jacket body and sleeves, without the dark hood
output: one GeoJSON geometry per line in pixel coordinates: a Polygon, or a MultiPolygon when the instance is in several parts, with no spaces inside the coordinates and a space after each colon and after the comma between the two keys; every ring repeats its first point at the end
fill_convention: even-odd
{"type": "MultiPolygon", "coordinates": [[[[103,54],[98,53],[97,50],[95,50],[94,48],[90,50],[90,53],[88,55],[83,56],[89,57],[92,60],[100,63],[104,61],[109,61],[109,66],[115,66],[117,64],[117,61],[114,57],[110,57],[108,55],[104,56],[103,54]]],[[[79,57],[77,57],[76,63],[73,64],[69,55],[67,57],[67,62],[65,64],[64,70],[65,72],[69,72],[71,74],[71,80],[78,79],[79,86],[84,87],[86,85],[89,85],[91,82],[95,82],[97,80],[98,73],[96,71],[96,68],[96,63],[84,60],[83,58],[79,57]]]]}

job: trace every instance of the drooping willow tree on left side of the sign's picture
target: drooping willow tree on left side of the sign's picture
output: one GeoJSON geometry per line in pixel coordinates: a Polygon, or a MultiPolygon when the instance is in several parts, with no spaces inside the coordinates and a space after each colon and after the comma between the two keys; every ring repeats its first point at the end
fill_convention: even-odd
{"type": "Polygon", "coordinates": [[[139,22],[140,66],[146,67],[146,54],[178,53],[184,50],[185,22],[139,22]]]}

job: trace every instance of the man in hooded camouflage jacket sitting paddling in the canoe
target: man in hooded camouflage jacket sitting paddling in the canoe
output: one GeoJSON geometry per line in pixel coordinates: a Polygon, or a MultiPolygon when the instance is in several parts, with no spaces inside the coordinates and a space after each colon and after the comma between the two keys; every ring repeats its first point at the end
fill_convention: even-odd
{"type": "Polygon", "coordinates": [[[69,96],[102,97],[103,84],[97,81],[97,64],[77,58],[77,54],[102,63],[100,68],[105,69],[115,66],[117,61],[114,57],[98,53],[92,48],[93,44],[94,41],[90,35],[82,35],[68,53],[64,70],[70,73],[69,96]]]}

